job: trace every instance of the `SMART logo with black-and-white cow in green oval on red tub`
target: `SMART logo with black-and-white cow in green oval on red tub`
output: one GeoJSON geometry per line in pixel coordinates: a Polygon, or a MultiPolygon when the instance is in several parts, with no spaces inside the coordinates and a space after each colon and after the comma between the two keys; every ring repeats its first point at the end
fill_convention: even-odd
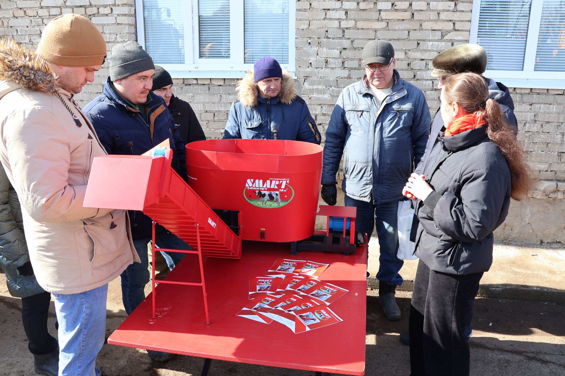
{"type": "Polygon", "coordinates": [[[289,179],[247,179],[245,200],[270,209],[285,206],[294,197],[294,189],[288,183],[289,179]]]}

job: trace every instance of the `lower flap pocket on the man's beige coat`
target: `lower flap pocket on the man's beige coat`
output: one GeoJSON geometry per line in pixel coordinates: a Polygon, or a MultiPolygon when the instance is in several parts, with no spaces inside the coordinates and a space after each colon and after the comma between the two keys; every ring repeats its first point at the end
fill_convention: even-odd
{"type": "Polygon", "coordinates": [[[84,231],[94,243],[90,265],[99,268],[111,262],[128,242],[125,210],[113,210],[99,218],[82,220],[84,231]]]}

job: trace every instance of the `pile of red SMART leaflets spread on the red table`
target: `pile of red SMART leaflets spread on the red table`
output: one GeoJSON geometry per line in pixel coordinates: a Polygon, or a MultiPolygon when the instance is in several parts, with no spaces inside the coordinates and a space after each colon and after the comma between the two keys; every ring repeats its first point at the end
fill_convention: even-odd
{"type": "Polygon", "coordinates": [[[237,316],[264,324],[277,321],[295,334],[343,321],[328,306],[348,290],[318,279],[328,266],[277,259],[266,277],[249,278],[250,302],[237,316]]]}

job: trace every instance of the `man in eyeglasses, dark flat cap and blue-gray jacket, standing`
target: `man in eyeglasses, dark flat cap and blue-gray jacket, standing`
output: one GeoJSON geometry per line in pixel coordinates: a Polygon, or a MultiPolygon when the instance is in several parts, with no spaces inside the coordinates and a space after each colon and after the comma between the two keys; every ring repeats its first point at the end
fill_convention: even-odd
{"type": "Polygon", "coordinates": [[[355,228],[370,238],[376,224],[380,257],[379,302],[400,319],[394,294],[402,284],[397,258],[398,202],[424,154],[431,120],[424,93],[394,69],[394,48],[371,41],[363,48],[365,76],[340,94],[325,133],[321,196],[337,201],[336,173],[344,157],[345,205],[357,207],[355,228]]]}

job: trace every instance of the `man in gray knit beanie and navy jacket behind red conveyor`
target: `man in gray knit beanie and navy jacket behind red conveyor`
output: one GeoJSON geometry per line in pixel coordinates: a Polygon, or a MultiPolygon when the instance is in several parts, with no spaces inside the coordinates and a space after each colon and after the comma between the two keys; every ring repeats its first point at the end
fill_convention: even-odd
{"type": "MultiPolygon", "coordinates": [[[[172,167],[186,181],[184,143],[164,100],[151,92],[155,65],[137,44],[129,41],[112,48],[110,77],[104,91],[84,108],[108,154],[140,155],[168,139],[173,151],[172,167]]],[[[141,263],[130,265],[121,273],[121,293],[129,315],[145,299],[149,282],[147,244],[151,240],[151,218],[130,210],[133,245],[141,263]]],[[[162,226],[155,228],[155,242],[160,248],[188,250],[190,246],[162,226]]],[[[168,253],[173,263],[184,254],[168,253]]],[[[147,351],[153,360],[167,361],[173,354],[147,351]]]]}

